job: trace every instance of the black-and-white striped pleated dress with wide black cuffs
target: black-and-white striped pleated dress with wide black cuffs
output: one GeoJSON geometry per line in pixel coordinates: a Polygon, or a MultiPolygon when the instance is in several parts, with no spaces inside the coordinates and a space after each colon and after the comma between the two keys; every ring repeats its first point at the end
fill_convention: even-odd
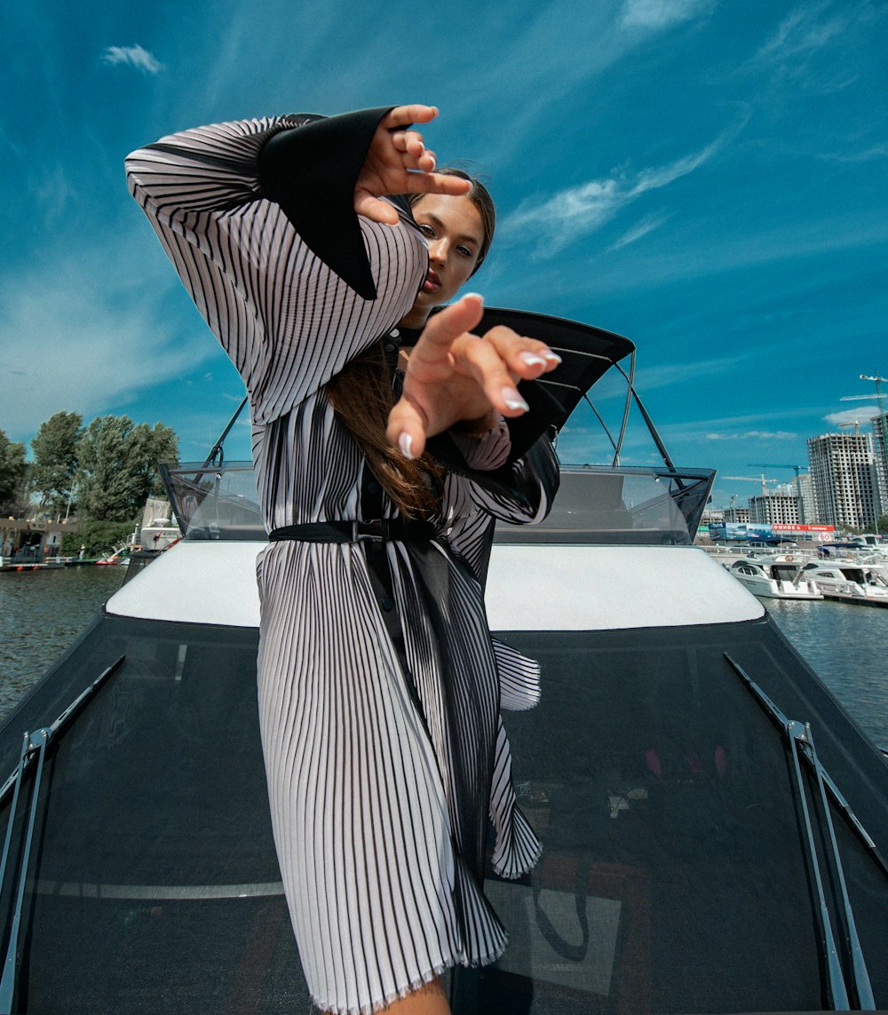
{"type": "MultiPolygon", "coordinates": [[[[409,212],[391,227],[351,210],[380,115],[220,124],[127,159],[133,196],[246,383],[269,531],[397,515],[325,395],[368,346],[397,346],[427,271],[409,212]],[[284,131],[289,202],[269,199],[259,167],[284,131]],[[340,240],[363,258],[358,283],[331,267],[340,240]]],[[[499,717],[536,702],[537,667],[491,639],[482,584],[494,519],[544,517],[557,467],[544,438],[510,462],[504,422],[452,447],[463,468],[445,479],[435,538],[284,540],[259,557],[272,825],[309,988],[329,1011],[372,1012],[451,965],[495,959],[506,936],[482,890],[490,819],[498,873],[521,875],[540,852],[499,717]]]]}

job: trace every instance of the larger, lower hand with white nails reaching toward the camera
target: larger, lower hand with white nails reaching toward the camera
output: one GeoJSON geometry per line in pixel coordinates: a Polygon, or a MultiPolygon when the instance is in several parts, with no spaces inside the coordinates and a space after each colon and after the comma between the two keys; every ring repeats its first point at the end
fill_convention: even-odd
{"type": "Polygon", "coordinates": [[[445,308],[425,326],[410,352],[401,399],[389,413],[386,434],[406,458],[463,420],[520,416],[527,403],[516,387],[554,369],[560,357],[544,343],[510,328],[473,335],[483,314],[474,293],[445,308]]]}

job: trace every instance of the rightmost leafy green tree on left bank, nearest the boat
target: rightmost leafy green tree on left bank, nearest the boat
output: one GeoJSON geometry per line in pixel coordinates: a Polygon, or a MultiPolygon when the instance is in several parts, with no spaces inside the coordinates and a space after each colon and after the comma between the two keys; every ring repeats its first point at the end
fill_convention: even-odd
{"type": "Polygon", "coordinates": [[[77,447],[77,500],[81,514],[106,522],[136,520],[159,491],[157,464],[178,461],[179,438],[162,423],[129,416],[97,416],[77,447]]]}

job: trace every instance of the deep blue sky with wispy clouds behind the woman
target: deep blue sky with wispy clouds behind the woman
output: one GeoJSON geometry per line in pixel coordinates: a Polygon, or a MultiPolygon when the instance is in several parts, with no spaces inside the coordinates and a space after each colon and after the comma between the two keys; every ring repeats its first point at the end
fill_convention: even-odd
{"type": "MultiPolygon", "coordinates": [[[[484,174],[491,306],[629,336],[637,388],[716,503],[804,465],[888,376],[888,6],[881,0],[91,0],[6,4],[0,428],[128,413],[200,458],[243,395],[123,177],[182,128],[436,105],[484,174]]],[[[616,410],[613,390],[598,399],[616,410]]],[[[578,418],[565,460],[608,460],[578,418]]],[[[847,430],[845,430],[847,432],[847,430]]],[[[247,425],[228,458],[249,457],[247,425]]],[[[656,461],[636,426],[624,464],[656,461]]]]}

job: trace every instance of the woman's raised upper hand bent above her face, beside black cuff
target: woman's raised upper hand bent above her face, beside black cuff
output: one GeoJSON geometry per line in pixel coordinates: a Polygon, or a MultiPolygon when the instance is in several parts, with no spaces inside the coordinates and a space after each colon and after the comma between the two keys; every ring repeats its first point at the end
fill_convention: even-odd
{"type": "Polygon", "coordinates": [[[434,152],[425,147],[422,135],[409,130],[411,124],[427,124],[437,116],[432,106],[396,106],[377,126],[363,167],[354,189],[354,210],[358,215],[398,224],[398,212],[387,194],[467,194],[472,185],[460,177],[435,173],[434,152]]]}

